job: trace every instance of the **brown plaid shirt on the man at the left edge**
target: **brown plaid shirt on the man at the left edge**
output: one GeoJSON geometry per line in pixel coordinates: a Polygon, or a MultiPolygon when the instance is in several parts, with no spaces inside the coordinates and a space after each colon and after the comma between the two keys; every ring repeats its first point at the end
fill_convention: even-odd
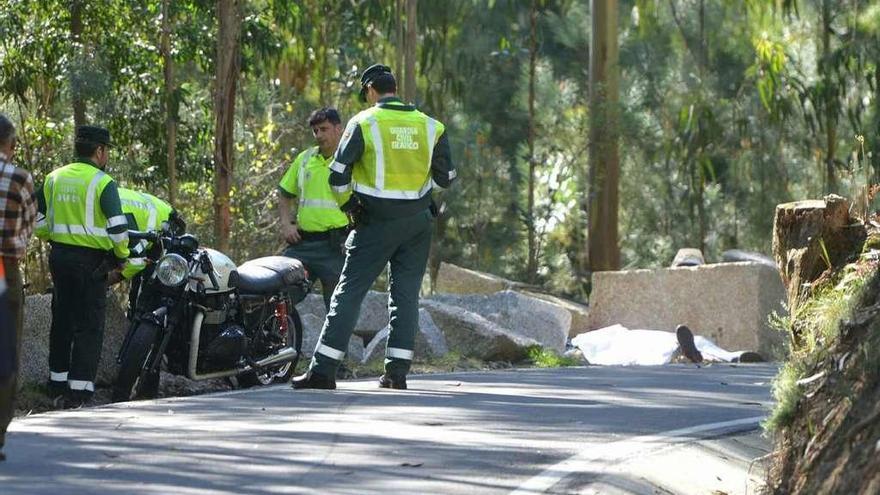
{"type": "Polygon", "coordinates": [[[21,259],[37,216],[34,179],[6,160],[0,153],[0,257],[21,259]]]}

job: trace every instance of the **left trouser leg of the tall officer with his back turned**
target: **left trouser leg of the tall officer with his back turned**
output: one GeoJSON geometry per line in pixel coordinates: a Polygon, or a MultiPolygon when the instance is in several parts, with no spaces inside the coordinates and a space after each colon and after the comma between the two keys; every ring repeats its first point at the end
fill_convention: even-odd
{"type": "MultiPolygon", "coordinates": [[[[354,332],[361,312],[361,303],[376,277],[382,273],[393,249],[387,236],[376,224],[358,227],[346,242],[345,265],[339,283],[330,300],[330,311],[324,320],[324,328],[318,347],[348,349],[348,341],[354,332]]],[[[315,373],[335,378],[339,361],[316,352],[310,369],[315,373]]]]}

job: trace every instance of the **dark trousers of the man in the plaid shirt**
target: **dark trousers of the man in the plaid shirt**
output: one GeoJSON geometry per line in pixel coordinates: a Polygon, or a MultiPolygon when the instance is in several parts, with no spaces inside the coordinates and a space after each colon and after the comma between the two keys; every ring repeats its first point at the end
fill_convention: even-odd
{"type": "MultiPolygon", "coordinates": [[[[6,428],[12,421],[15,411],[15,392],[18,387],[18,362],[21,360],[21,326],[24,309],[24,290],[21,282],[21,272],[18,271],[18,261],[13,258],[3,258],[3,268],[6,271],[6,299],[9,304],[9,316],[13,321],[15,336],[13,339],[14,354],[4,353],[7,357],[15,360],[12,375],[0,378],[0,449],[6,443],[6,428]]],[[[12,350],[12,349],[8,349],[12,350]]]]}

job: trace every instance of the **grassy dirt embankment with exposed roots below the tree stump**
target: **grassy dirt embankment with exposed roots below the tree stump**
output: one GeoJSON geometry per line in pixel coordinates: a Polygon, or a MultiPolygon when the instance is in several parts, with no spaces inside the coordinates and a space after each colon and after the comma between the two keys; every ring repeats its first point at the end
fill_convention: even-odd
{"type": "Polygon", "coordinates": [[[769,422],[776,439],[770,493],[880,494],[877,230],[867,223],[865,242],[824,255],[842,264],[828,263],[806,292],[797,289],[791,356],[776,381],[769,422]]]}

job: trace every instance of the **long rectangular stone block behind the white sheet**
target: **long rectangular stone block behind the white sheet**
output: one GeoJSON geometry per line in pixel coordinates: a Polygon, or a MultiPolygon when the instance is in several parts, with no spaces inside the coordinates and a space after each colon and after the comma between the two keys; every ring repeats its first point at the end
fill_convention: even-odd
{"type": "Polygon", "coordinates": [[[781,357],[783,336],[767,318],[783,312],[779,272],[761,263],[719,263],[593,274],[590,327],[674,331],[688,325],[724,349],[781,357]]]}

